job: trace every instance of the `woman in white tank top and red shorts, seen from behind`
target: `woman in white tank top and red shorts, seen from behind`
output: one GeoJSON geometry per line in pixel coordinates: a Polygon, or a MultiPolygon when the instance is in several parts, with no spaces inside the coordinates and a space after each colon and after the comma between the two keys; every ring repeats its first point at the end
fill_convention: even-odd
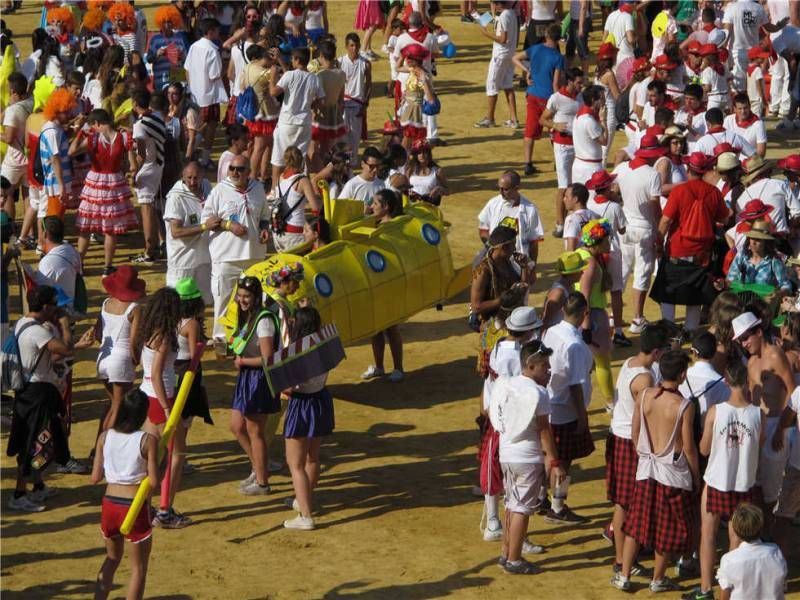
{"type": "Polygon", "coordinates": [[[141,430],[147,418],[147,397],[130,390],[122,399],[114,426],[97,440],[92,466],[92,483],[107,482],[103,496],[100,529],[106,540],[106,558],[95,580],[95,598],[106,598],[114,583],[114,573],[124,552],[125,540],[131,561],[128,598],[144,597],[147,563],[152,548],[150,504],[142,506],[131,531],[122,535],[120,527],[136,491],[145,477],[155,487],[158,482],[158,442],[141,430]]]}

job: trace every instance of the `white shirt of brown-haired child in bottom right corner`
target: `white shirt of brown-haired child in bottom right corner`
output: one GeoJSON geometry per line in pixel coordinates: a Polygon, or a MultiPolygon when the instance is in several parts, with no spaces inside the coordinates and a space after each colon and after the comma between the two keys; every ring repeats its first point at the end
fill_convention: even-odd
{"type": "Polygon", "coordinates": [[[721,589],[733,590],[731,600],[783,600],[786,560],[775,544],[742,542],[722,555],[717,579],[721,589]]]}

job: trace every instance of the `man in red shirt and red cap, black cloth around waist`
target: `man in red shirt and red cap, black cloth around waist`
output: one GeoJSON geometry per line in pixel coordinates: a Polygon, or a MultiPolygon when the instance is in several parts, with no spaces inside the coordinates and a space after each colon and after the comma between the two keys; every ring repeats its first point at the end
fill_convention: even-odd
{"type": "Polygon", "coordinates": [[[703,181],[714,157],[694,152],[684,162],[688,181],[672,188],[658,224],[666,256],[650,297],[661,303],[662,317],[673,322],[675,305],[686,306],[684,330],[691,333],[700,325],[700,307],[714,301],[708,265],[717,225],[728,220],[730,210],[720,191],[703,181]]]}

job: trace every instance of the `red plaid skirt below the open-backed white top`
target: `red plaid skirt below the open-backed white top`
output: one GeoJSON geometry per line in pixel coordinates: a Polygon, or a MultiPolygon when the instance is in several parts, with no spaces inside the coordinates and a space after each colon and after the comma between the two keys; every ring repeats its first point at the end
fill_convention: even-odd
{"type": "Polygon", "coordinates": [[[698,527],[697,502],[687,490],[638,480],[622,530],[659,554],[688,552],[698,527]]]}

